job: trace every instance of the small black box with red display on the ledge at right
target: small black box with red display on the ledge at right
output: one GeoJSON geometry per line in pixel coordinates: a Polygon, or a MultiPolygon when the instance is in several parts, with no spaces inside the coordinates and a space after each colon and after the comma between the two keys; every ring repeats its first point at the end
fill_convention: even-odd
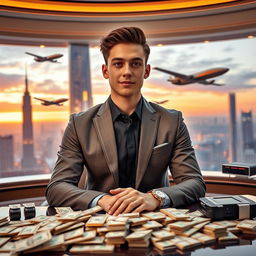
{"type": "Polygon", "coordinates": [[[246,163],[223,164],[222,172],[252,176],[252,175],[256,175],[256,164],[246,164],[246,163]]]}

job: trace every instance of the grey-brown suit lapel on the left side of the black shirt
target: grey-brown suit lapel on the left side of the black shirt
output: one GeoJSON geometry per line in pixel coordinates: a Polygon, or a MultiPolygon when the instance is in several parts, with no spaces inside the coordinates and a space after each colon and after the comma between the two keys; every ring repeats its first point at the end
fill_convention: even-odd
{"type": "MultiPolygon", "coordinates": [[[[119,184],[118,176],[118,158],[116,150],[116,139],[113,128],[108,101],[106,101],[99,109],[97,116],[93,119],[93,123],[104,152],[109,170],[114,176],[116,186],[119,184]]],[[[100,159],[99,159],[100,161],[100,159]]]]}

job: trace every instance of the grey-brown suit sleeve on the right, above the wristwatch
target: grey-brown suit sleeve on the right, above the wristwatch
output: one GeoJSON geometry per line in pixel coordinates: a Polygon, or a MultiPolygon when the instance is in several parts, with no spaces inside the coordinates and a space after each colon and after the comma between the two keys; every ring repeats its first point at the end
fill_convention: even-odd
{"type": "Polygon", "coordinates": [[[175,185],[161,190],[170,197],[173,207],[193,204],[205,195],[205,183],[181,112],[169,168],[175,185]]]}

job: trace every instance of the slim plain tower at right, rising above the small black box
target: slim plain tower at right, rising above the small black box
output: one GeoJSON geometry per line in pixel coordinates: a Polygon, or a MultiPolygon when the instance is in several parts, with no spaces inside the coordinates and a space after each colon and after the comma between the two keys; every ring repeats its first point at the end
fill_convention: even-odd
{"type": "Polygon", "coordinates": [[[235,93],[229,94],[229,131],[230,142],[229,152],[231,162],[237,161],[237,127],[236,127],[236,95],[235,93]]]}

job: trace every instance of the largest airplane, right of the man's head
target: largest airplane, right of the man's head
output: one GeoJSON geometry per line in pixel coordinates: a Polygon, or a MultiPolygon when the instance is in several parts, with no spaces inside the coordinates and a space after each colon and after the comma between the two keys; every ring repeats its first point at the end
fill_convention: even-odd
{"type": "Polygon", "coordinates": [[[185,75],[185,74],[177,73],[177,72],[174,72],[171,70],[166,70],[166,69],[158,68],[158,67],[155,67],[154,69],[174,76],[174,78],[172,78],[170,76],[170,78],[167,81],[169,81],[175,85],[186,85],[186,84],[192,84],[192,83],[199,83],[199,84],[204,84],[204,85],[222,86],[224,84],[217,84],[217,83],[215,83],[215,80],[207,81],[206,79],[220,76],[229,71],[229,68],[212,68],[212,69],[204,70],[204,71],[196,73],[196,74],[185,75]]]}

